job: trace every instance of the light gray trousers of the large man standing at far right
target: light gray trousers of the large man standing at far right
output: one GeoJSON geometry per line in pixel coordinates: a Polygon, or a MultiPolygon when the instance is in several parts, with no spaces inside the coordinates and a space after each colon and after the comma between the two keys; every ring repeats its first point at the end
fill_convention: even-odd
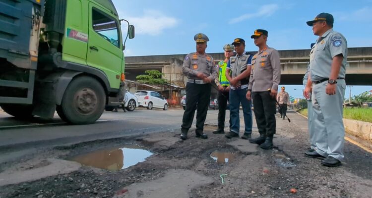
{"type": "Polygon", "coordinates": [[[342,103],[345,96],[345,80],[337,80],[336,94],[327,95],[328,82],[313,84],[312,109],[314,110],[313,131],[315,150],[327,157],[344,158],[345,128],[342,121],[342,103]]]}

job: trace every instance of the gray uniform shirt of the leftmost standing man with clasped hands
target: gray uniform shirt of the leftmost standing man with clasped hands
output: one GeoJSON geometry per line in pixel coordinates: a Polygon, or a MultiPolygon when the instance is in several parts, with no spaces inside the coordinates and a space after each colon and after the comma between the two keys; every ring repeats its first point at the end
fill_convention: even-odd
{"type": "Polygon", "coordinates": [[[217,68],[215,67],[213,57],[208,54],[198,54],[196,52],[186,55],[182,72],[187,78],[202,80],[196,77],[198,72],[204,73],[208,79],[214,81],[217,77],[217,68]]]}

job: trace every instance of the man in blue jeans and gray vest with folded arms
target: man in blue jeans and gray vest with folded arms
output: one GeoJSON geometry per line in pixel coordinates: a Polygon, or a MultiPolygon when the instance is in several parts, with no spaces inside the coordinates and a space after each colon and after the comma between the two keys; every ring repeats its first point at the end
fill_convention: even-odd
{"type": "Polygon", "coordinates": [[[242,138],[248,140],[252,134],[252,104],[250,99],[246,99],[246,94],[249,83],[250,62],[252,55],[246,52],[246,42],[244,39],[237,38],[234,40],[232,45],[234,45],[234,49],[237,54],[230,57],[230,61],[227,63],[225,72],[226,78],[230,81],[229,105],[231,119],[230,132],[225,136],[226,138],[239,137],[239,107],[242,103],[245,125],[242,138]]]}

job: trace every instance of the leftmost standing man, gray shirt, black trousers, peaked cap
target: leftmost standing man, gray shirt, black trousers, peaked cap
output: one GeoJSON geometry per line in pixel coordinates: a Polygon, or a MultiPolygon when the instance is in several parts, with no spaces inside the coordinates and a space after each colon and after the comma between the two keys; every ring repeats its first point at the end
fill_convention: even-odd
{"type": "Polygon", "coordinates": [[[181,139],[187,139],[188,129],[191,127],[196,113],[196,130],[197,138],[207,139],[208,136],[203,133],[204,121],[207,116],[209,98],[211,92],[211,82],[217,76],[212,56],[205,54],[207,48],[208,37],[205,34],[199,33],[194,36],[196,42],[196,52],[186,55],[182,71],[187,76],[186,84],[186,110],[182,119],[181,139]]]}

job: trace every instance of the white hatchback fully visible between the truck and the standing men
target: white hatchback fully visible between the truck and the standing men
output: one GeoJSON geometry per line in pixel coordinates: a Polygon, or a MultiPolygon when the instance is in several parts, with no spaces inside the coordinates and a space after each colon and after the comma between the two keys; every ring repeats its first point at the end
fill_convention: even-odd
{"type": "Polygon", "coordinates": [[[168,102],[159,93],[153,91],[139,90],[134,94],[138,99],[138,105],[152,108],[162,108],[168,110],[168,102]]]}

